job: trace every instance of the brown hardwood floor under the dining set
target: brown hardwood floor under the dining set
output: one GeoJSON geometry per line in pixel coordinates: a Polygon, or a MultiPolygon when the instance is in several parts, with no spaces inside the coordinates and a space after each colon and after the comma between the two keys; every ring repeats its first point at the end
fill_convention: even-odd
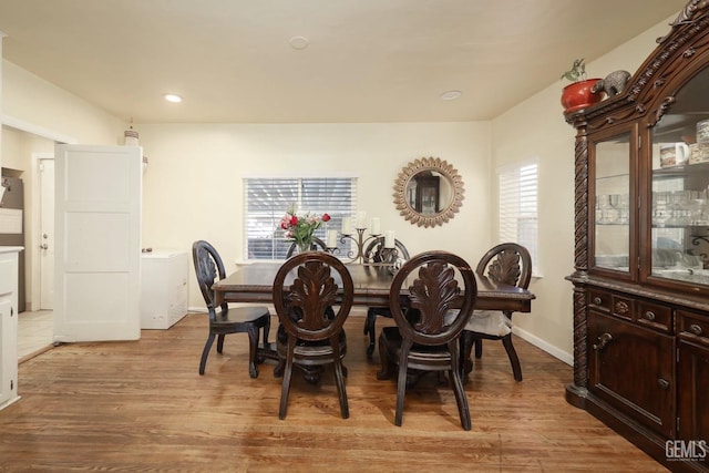
{"type": "Polygon", "coordinates": [[[56,347],[20,364],[22,399],[0,411],[0,471],[667,471],[567,404],[572,368],[518,338],[521,383],[502,343],[486,342],[466,385],[472,431],[435,377],[408,392],[395,426],[395,383],[377,381],[377,353],[366,361],[363,322],[346,323],[347,420],[331,371],[321,387],[294,377],[278,420],[280,380],[270,362],[248,377],[245,335],[227,337],[201,377],[204,315],[140,341],[56,347]]]}

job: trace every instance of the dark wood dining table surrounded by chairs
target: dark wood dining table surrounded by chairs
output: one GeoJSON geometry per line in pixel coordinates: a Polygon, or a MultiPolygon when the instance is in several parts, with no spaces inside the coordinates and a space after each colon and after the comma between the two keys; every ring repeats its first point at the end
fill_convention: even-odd
{"type": "MultiPolygon", "coordinates": [[[[281,261],[238,264],[236,271],[212,286],[215,306],[223,302],[273,304],[274,279],[281,265],[281,261]]],[[[354,286],[353,306],[389,306],[389,292],[394,278],[392,265],[353,263],[346,266],[354,286]]],[[[333,274],[332,276],[338,284],[339,275],[333,274]]],[[[286,279],[287,282],[288,279],[286,279]]],[[[532,310],[532,300],[535,296],[527,289],[497,284],[477,273],[475,273],[475,282],[477,285],[475,309],[511,310],[513,312],[530,312],[532,310]]],[[[341,285],[339,286],[341,287],[341,285]]],[[[407,285],[404,284],[403,287],[407,285]]],[[[258,347],[257,356],[261,359],[277,361],[279,364],[274,370],[274,374],[282,374],[284,363],[277,353],[276,343],[266,342],[258,347]]],[[[311,371],[304,368],[302,371],[308,382],[318,382],[318,370],[311,371]]]]}

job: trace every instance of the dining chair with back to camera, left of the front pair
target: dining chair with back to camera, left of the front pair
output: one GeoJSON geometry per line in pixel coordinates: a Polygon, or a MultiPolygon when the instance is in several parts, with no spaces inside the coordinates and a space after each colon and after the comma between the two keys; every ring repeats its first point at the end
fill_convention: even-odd
{"type": "Polygon", "coordinates": [[[347,267],[325,251],[292,256],[274,279],[274,307],[286,339],[277,339],[278,356],[285,359],[279,419],[286,418],[294,364],[332,364],[342,419],[349,418],[346,370],[342,358],[347,342],[342,326],[354,299],[354,285],[347,267]],[[337,278],[332,273],[337,273],[337,278]]]}

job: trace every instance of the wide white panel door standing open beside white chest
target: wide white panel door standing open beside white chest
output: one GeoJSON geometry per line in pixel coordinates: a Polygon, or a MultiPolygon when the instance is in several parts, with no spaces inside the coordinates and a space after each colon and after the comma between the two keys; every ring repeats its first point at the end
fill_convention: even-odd
{"type": "Polygon", "coordinates": [[[56,145],[54,341],[141,338],[137,146],[56,145]]]}

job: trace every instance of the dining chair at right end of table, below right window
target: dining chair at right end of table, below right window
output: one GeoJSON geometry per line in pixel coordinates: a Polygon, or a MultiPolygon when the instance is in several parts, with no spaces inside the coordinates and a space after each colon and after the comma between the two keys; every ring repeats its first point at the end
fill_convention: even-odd
{"type": "MultiPolygon", "coordinates": [[[[491,280],[508,286],[516,286],[523,289],[530,287],[532,279],[532,257],[530,251],[522,245],[516,243],[503,243],[483,255],[477,264],[475,273],[486,275],[491,280]]],[[[471,352],[475,347],[475,358],[480,359],[483,354],[483,340],[502,340],[505,347],[512,372],[516,381],[522,381],[522,367],[520,366],[520,357],[512,345],[512,311],[475,311],[469,327],[461,335],[461,368],[463,369],[463,379],[466,381],[469,373],[473,369],[471,352]],[[482,331],[482,326],[476,318],[493,318],[483,326],[491,328],[490,331],[482,331]],[[507,328],[500,330],[499,328],[507,328]]]]}

